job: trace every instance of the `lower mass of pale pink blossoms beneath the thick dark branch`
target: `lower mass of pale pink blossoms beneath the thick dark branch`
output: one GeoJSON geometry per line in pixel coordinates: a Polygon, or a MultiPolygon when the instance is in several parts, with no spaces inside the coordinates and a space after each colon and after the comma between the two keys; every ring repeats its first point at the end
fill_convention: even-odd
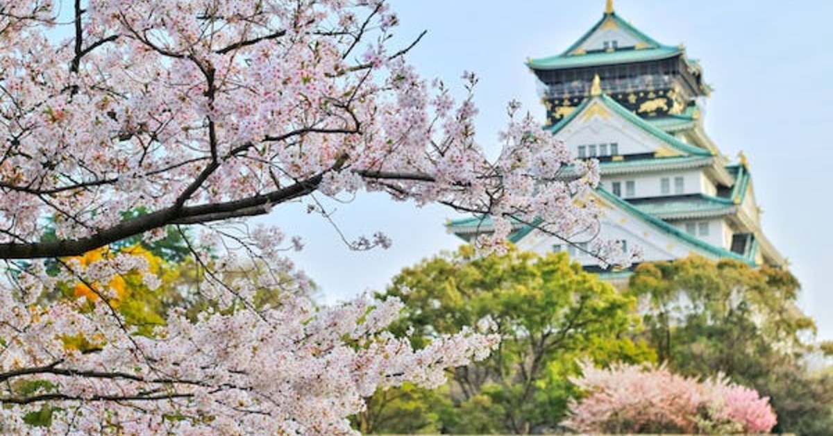
{"type": "Polygon", "coordinates": [[[496,344],[466,329],[415,350],[385,331],[402,310],[396,299],[280,302],[207,310],[196,321],[173,311],[141,335],[103,299],[27,306],[2,293],[0,432],[351,433],[347,417],[377,388],[435,387],[445,368],[496,344]],[[44,404],[48,425],[28,425],[44,404]]]}

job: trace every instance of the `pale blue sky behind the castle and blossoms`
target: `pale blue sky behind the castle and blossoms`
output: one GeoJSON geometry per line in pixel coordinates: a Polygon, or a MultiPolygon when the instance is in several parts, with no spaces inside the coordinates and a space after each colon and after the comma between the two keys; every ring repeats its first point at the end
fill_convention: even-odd
{"type": "MultiPolygon", "coordinates": [[[[456,85],[464,70],[478,73],[478,137],[495,150],[511,98],[543,119],[524,60],[561,53],[601,18],[604,3],[393,0],[392,7],[403,38],[428,30],[410,58],[425,77],[456,85]]],[[[824,275],[833,260],[831,195],[823,178],[833,174],[827,132],[833,125],[831,9],[833,3],[810,0],[616,1],[621,17],[661,43],[685,43],[688,55],[700,59],[715,89],[706,131],[726,155],[734,158],[742,149],[749,158],[766,233],[790,258],[804,288],[801,307],[816,318],[823,338],[833,338],[833,294],[824,275]]],[[[268,219],[304,238],[307,248],[293,258],[327,301],[382,289],[401,268],[458,243],[442,227],[453,216],[443,208],[362,195],[338,209],[335,218],[345,233],[384,230],[393,247],[352,253],[327,223],[301,207],[277,208],[268,219]]]]}

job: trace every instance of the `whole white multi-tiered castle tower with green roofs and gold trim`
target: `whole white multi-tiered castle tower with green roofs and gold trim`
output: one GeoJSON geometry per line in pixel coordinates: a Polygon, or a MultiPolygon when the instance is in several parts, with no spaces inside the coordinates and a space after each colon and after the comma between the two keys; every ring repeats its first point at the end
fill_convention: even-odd
{"type": "MultiPolygon", "coordinates": [[[[605,271],[592,238],[639,247],[644,261],[734,258],[751,265],[786,260],[761,230],[749,163],[720,153],[703,128],[710,88],[682,46],[656,42],[620,18],[607,0],[601,19],[561,54],[529,59],[546,107],[546,126],[578,158],[601,168],[598,235],[560,240],[518,225],[519,248],[565,250],[588,270],[605,271]]],[[[448,224],[471,240],[488,218],[448,224]]]]}

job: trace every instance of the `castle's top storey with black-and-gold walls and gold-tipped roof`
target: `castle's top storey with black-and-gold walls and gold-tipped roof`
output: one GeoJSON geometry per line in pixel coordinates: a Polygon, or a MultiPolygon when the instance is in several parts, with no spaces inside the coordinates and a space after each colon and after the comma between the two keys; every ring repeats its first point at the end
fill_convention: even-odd
{"type": "Polygon", "coordinates": [[[608,4],[601,19],[564,53],[530,59],[541,81],[547,123],[555,124],[586,98],[595,76],[602,91],[641,118],[679,115],[707,97],[696,61],[682,46],[667,46],[621,19],[608,4]]]}

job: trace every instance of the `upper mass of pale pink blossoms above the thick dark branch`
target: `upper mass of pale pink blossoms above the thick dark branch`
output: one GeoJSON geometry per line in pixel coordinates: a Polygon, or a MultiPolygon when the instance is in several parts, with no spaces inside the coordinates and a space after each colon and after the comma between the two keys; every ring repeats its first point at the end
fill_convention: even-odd
{"type": "Polygon", "coordinates": [[[67,41],[47,32],[50,3],[12,3],[0,16],[13,41],[0,54],[0,244],[19,253],[46,216],[59,240],[113,242],[131,236],[105,232],[124,211],[158,213],[135,220],[146,232],[315,191],[491,214],[494,241],[511,218],[559,234],[596,218],[576,198],[598,168],[556,178],[571,153],[516,105],[499,158],[486,158],[471,95],[455,103],[387,47],[398,18],[383,1],[91,0],[67,41]]]}

